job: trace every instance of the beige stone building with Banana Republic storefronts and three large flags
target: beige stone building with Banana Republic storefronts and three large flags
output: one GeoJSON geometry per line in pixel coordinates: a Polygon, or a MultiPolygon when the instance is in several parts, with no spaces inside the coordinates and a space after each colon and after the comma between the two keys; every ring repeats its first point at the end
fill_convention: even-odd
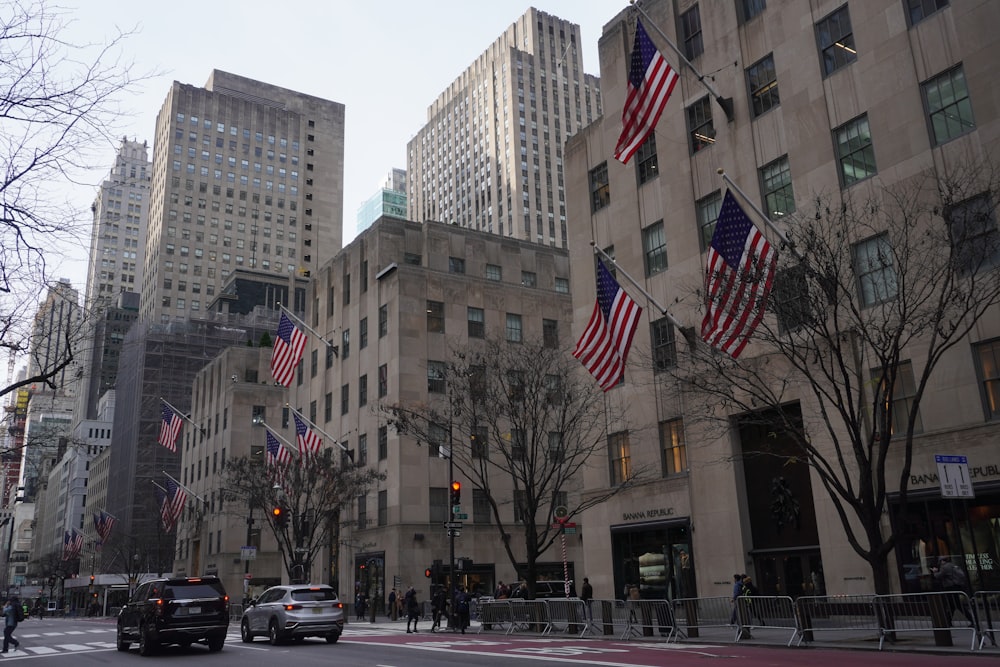
{"type": "MultiPolygon", "coordinates": [[[[740,201],[747,211],[756,206],[779,228],[792,228],[802,221],[797,216],[818,214],[817,197],[829,197],[836,211],[842,202],[868,201],[882,188],[918,176],[934,184],[966,160],[1000,154],[1000,97],[992,75],[993,63],[1000,61],[996,5],[653,0],[642,7],[649,14],[642,19],[646,32],[680,78],[653,136],[630,163],[617,162],[613,154],[622,130],[638,13],[625,10],[605,25],[601,83],[609,112],[566,146],[577,332],[584,329],[595,299],[592,244],[614,257],[619,281],[634,298],[640,299],[640,292],[623,272],[667,304],[682,324],[697,327],[705,312],[704,292],[697,290],[705,285],[707,245],[729,188],[717,173],[720,167],[746,193],[740,201]],[[706,80],[714,91],[678,62],[659,31],[685,51],[699,72],[712,73],[706,80]],[[731,108],[717,97],[730,98],[731,108]]],[[[936,188],[933,192],[939,196],[936,188]]],[[[983,225],[984,237],[995,237],[995,192],[992,200],[977,201],[986,202],[977,209],[977,225],[983,225]]],[[[780,246],[774,230],[759,216],[751,217],[780,246]]],[[[941,219],[937,223],[944,225],[941,219]]],[[[873,277],[863,271],[871,264],[860,258],[866,244],[881,238],[878,231],[857,230],[847,251],[848,257],[859,258],[849,275],[861,312],[872,312],[865,285],[873,277]]],[[[792,256],[787,248],[779,253],[792,256]]],[[[775,289],[782,281],[787,288],[790,280],[779,272],[775,289]]],[[[769,318],[775,318],[773,312],[765,323],[778,331],[778,320],[769,318]]],[[[728,595],[723,573],[747,572],[767,595],[872,593],[873,570],[850,547],[816,470],[787,457],[756,455],[766,451],[764,443],[781,440],[782,433],[753,427],[746,412],[721,401],[718,415],[728,420],[710,425],[698,418],[704,413],[693,405],[695,399],[680,391],[667,372],[690,354],[678,333],[658,309],[647,307],[624,382],[606,394],[609,405],[628,405],[643,418],[628,427],[609,424],[608,465],[594,466],[588,488],[616,483],[623,466],[649,466],[657,475],[586,513],[587,535],[602,543],[587,551],[595,588],[619,591],[638,580],[644,596],[710,597],[728,595]],[[782,512],[793,512],[794,521],[783,522],[782,512]],[[686,579],[677,574],[685,570],[686,579]],[[685,582],[695,590],[684,590],[685,582]]],[[[910,500],[905,512],[898,495],[904,447],[896,448],[895,440],[890,447],[881,530],[896,540],[889,556],[896,591],[928,590],[933,579],[928,564],[938,555],[964,563],[977,590],[1000,584],[995,565],[1000,467],[991,398],[998,340],[1000,313],[993,308],[947,351],[931,376],[919,408],[922,432],[915,437],[906,476],[910,500]],[[936,454],[968,457],[974,500],[958,507],[942,498],[936,454]]],[[[912,377],[919,377],[926,363],[925,343],[907,345],[898,360],[900,372],[912,369],[913,376],[910,383],[901,380],[893,396],[896,414],[908,413],[912,377]]],[[[783,405],[797,408],[807,423],[822,423],[817,397],[797,385],[794,372],[785,379],[784,367],[774,366],[782,355],[762,359],[762,351],[771,348],[754,345],[740,361],[757,361],[761,368],[772,364],[770,372],[785,382],[776,380],[773,387],[784,387],[783,405]]],[[[877,371],[858,368],[859,382],[877,371]]],[[[865,387],[875,391],[871,382],[865,387]]],[[[822,427],[809,434],[824,447],[833,439],[822,427]]]]}

